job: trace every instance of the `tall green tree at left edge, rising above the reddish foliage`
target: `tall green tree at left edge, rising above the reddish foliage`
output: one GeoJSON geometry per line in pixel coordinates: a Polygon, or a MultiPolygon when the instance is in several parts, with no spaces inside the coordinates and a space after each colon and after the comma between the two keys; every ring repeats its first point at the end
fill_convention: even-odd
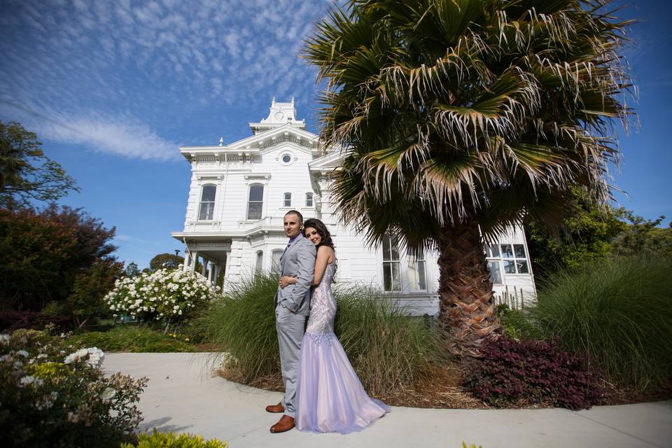
{"type": "Polygon", "coordinates": [[[31,200],[53,202],[78,190],[41,145],[20,123],[0,121],[0,209],[25,207],[31,200]]]}

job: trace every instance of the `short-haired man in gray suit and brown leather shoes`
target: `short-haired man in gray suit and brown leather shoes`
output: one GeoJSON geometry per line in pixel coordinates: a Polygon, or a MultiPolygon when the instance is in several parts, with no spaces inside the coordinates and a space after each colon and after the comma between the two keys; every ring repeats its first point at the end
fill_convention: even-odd
{"type": "Polygon", "coordinates": [[[280,258],[280,276],[296,277],[297,281],[286,288],[278,287],[275,293],[275,328],[280,346],[280,365],[285,396],[277,405],[266,407],[267,412],[283,412],[271,426],[272,433],[284,433],[294,427],[294,398],[301,341],[310,312],[310,285],[315,271],[315,246],[302,234],[303,216],[295,210],[284,217],[285,234],[289,242],[280,258]]]}

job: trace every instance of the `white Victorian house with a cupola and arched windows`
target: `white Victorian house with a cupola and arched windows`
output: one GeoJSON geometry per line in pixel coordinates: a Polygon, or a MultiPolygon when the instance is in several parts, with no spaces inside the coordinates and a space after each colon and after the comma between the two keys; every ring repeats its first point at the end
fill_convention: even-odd
{"type": "MultiPolygon", "coordinates": [[[[319,150],[318,136],[297,120],[294,100],[273,99],[267,118],[250,123],[246,139],[215,146],[183,146],[192,177],[182,232],[185,269],[202,260],[202,274],[227,288],[256,269],[273,269],[287,244],[283,216],[290,209],[329,228],[338,258],[337,281],[389,291],[413,314],[438,311],[437,254],[412,256],[393,237],[367,248],[363,237],[339,223],[330,202],[330,174],[342,153],[319,150]]],[[[487,248],[496,293],[534,295],[534,281],[521,228],[511,228],[487,248]]]]}

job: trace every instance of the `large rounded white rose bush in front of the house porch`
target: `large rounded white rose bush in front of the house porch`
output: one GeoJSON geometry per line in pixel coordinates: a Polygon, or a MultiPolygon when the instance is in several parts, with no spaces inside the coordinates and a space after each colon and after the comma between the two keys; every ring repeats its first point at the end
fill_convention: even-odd
{"type": "Polygon", "coordinates": [[[196,272],[158,269],[118,279],[104,301],[115,318],[130,316],[171,323],[193,314],[200,303],[211,301],[219,290],[196,272]]]}

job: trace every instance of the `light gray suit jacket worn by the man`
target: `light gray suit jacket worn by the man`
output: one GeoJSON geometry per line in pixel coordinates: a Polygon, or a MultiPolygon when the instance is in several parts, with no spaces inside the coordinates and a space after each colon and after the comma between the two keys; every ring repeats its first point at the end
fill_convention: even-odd
{"type": "Polygon", "coordinates": [[[315,272],[317,251],[314,244],[302,234],[297,235],[291,246],[280,258],[280,275],[296,277],[296,283],[285,288],[278,287],[274,306],[281,304],[295,314],[308,316],[310,313],[310,283],[315,272]]]}

